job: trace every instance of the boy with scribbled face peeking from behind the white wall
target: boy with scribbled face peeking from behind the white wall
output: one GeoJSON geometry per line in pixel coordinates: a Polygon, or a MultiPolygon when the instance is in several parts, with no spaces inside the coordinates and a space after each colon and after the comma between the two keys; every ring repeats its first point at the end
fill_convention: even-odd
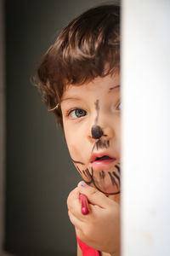
{"type": "Polygon", "coordinates": [[[78,256],[120,255],[119,30],[119,7],[89,9],[65,27],[38,68],[43,100],[86,182],[67,201],[78,256]],[[87,215],[80,194],[88,198],[87,215]]]}

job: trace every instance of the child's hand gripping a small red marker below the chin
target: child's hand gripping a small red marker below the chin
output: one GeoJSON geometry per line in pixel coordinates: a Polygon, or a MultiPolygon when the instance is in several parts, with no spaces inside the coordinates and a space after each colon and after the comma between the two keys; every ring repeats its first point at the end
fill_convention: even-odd
{"type": "Polygon", "coordinates": [[[80,240],[101,252],[120,254],[120,206],[115,201],[81,182],[71,191],[67,205],[80,240]],[[81,211],[80,193],[88,198],[87,215],[81,211]]]}

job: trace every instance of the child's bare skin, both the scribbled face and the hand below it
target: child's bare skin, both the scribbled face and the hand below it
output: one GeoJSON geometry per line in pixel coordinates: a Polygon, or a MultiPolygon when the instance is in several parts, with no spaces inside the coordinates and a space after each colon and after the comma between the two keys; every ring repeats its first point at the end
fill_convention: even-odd
{"type": "Polygon", "coordinates": [[[118,256],[121,189],[119,74],[96,78],[87,84],[69,84],[61,100],[61,111],[71,159],[90,185],[82,187],[79,184],[71,191],[67,201],[71,222],[82,241],[107,253],[102,255],[118,256]],[[110,156],[111,160],[106,160],[105,164],[103,160],[94,160],[101,155],[110,156]],[[81,213],[80,193],[88,197],[90,211],[86,216],[81,213]],[[108,225],[111,229],[106,228],[108,225]]]}

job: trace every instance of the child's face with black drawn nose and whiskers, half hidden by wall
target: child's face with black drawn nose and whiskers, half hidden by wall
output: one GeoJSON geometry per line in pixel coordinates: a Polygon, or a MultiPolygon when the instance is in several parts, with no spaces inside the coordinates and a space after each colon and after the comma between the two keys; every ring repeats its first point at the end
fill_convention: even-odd
{"type": "Polygon", "coordinates": [[[66,142],[77,171],[106,195],[120,192],[120,76],[69,85],[61,101],[66,142]]]}

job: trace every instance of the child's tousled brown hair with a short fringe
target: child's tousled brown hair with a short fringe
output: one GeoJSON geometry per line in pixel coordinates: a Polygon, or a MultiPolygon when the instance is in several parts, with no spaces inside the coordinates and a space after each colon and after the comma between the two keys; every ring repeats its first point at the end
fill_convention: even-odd
{"type": "Polygon", "coordinates": [[[42,56],[37,87],[48,110],[62,125],[60,108],[66,85],[81,85],[120,70],[120,7],[89,9],[65,26],[42,56]],[[58,104],[59,106],[59,104],[58,104]]]}

